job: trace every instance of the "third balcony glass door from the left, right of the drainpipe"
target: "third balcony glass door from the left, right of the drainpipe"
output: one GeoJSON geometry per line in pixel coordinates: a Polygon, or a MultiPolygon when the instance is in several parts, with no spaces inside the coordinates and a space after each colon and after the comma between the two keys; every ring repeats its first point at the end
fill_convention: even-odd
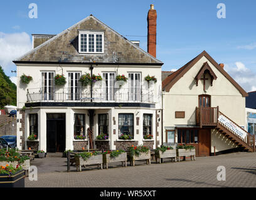
{"type": "Polygon", "coordinates": [[[103,81],[105,81],[104,99],[106,101],[115,100],[115,73],[103,73],[103,81]]]}

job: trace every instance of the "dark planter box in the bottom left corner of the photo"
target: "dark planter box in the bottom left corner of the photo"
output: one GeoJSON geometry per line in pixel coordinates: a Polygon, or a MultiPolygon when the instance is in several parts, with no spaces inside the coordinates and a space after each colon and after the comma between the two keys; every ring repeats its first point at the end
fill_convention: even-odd
{"type": "Polygon", "coordinates": [[[25,171],[19,171],[13,176],[0,174],[0,188],[2,187],[25,187],[25,171]]]}

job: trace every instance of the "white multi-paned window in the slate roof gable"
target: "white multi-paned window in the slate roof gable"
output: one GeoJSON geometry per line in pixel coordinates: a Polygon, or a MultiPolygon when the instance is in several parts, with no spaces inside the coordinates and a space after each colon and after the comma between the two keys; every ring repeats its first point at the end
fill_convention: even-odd
{"type": "Polygon", "coordinates": [[[79,53],[104,53],[104,32],[79,31],[79,53]]]}

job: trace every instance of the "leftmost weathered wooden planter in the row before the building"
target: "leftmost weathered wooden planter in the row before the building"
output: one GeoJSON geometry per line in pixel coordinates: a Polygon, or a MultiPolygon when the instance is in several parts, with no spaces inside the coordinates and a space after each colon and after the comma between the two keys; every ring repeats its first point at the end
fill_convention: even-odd
{"type": "Polygon", "coordinates": [[[90,165],[90,164],[98,164],[98,168],[103,169],[103,159],[102,154],[97,156],[91,156],[86,161],[83,160],[82,157],[75,157],[75,165],[77,166],[77,171],[82,171],[82,166],[90,165]]]}

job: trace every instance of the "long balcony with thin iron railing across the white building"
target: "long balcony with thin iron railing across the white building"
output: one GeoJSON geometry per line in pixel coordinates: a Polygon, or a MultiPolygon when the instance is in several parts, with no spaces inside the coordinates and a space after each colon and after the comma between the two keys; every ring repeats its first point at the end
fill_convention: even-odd
{"type": "Polygon", "coordinates": [[[154,90],[131,88],[28,89],[27,103],[155,103],[154,90]]]}

